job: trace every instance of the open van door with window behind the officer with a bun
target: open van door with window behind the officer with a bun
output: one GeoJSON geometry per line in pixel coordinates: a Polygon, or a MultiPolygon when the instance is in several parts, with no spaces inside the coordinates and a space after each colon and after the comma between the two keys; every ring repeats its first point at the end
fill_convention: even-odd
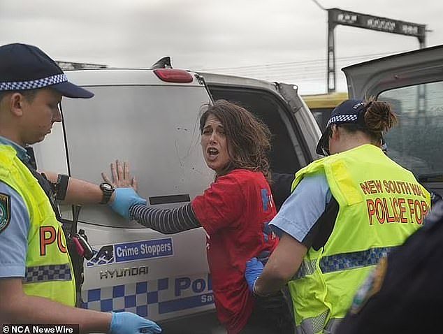
{"type": "Polygon", "coordinates": [[[391,103],[398,126],[386,134],[388,155],[443,194],[443,45],[342,68],[349,97],[391,103]]]}

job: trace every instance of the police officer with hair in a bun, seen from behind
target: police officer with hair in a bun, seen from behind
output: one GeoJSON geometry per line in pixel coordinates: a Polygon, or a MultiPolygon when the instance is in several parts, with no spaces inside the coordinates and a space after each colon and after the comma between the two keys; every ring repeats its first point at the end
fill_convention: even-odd
{"type": "Polygon", "coordinates": [[[380,101],[337,106],[317,145],[331,156],[296,173],[270,222],[281,240],[264,269],[247,263],[258,296],[288,283],[298,333],[335,333],[370,270],[423,224],[430,194],[380,145],[396,120],[380,101]]]}

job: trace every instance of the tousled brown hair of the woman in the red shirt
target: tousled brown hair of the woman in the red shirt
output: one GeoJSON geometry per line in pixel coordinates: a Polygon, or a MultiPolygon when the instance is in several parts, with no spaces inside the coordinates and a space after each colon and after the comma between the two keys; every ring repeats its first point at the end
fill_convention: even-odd
{"type": "Polygon", "coordinates": [[[268,126],[245,108],[226,100],[217,100],[201,115],[200,133],[203,133],[206,119],[210,115],[217,117],[224,127],[230,158],[230,162],[217,176],[243,168],[259,171],[270,181],[268,152],[271,133],[268,126]]]}

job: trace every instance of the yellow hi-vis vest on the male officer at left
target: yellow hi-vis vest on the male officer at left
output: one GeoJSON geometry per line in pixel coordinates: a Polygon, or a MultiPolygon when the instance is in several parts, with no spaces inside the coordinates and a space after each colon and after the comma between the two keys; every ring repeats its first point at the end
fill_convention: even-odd
{"type": "Polygon", "coordinates": [[[73,268],[61,224],[38,181],[8,145],[0,145],[0,180],[22,196],[29,212],[24,293],[74,306],[73,268]]]}

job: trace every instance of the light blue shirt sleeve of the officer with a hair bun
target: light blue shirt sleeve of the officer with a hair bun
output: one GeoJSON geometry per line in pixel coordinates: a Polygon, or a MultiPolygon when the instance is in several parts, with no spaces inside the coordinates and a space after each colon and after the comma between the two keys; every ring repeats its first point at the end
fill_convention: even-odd
{"type": "Polygon", "coordinates": [[[331,190],[324,173],[303,177],[282,208],[269,223],[273,231],[282,232],[302,242],[331,201],[331,190]]]}

